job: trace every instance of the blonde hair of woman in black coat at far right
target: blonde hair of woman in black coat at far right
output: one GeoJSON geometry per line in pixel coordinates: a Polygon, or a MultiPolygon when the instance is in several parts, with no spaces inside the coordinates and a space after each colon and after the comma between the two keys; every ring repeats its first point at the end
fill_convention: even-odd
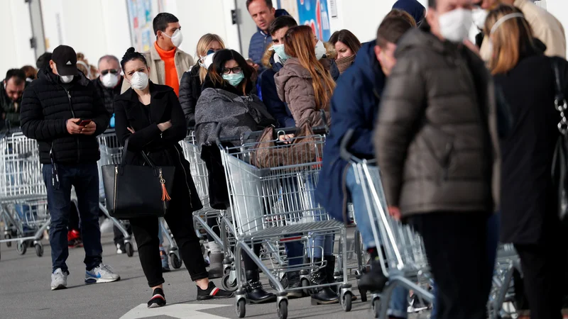
{"type": "Polygon", "coordinates": [[[491,33],[491,29],[500,18],[511,13],[522,12],[514,6],[501,4],[491,10],[485,21],[484,33],[491,37],[493,52],[489,60],[491,74],[501,74],[510,71],[520,60],[520,55],[530,47],[534,47],[532,29],[525,18],[515,17],[503,21],[500,26],[491,33]]]}

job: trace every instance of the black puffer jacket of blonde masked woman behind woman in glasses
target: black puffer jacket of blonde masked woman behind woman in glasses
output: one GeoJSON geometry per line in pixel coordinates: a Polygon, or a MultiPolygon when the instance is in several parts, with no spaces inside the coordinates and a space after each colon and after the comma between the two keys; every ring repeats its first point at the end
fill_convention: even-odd
{"type": "Polygon", "coordinates": [[[180,104],[187,126],[195,126],[195,105],[201,96],[200,65],[194,65],[185,72],[180,82],[180,104]]]}

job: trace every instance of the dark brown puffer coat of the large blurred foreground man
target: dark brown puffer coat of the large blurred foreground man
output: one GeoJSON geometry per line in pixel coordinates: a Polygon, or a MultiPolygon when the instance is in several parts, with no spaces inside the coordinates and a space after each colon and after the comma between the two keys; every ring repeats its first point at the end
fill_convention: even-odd
{"type": "Polygon", "coordinates": [[[388,205],[405,217],[493,212],[501,158],[484,62],[418,29],[404,36],[395,56],[374,136],[388,205]]]}

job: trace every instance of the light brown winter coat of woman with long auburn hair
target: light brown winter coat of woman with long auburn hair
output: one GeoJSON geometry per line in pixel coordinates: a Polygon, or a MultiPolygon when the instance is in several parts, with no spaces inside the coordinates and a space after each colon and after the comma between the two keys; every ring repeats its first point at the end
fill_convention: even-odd
{"type": "MultiPolygon", "coordinates": [[[[300,126],[304,121],[310,121],[312,126],[323,125],[322,113],[315,103],[312,75],[300,65],[295,57],[290,57],[282,69],[274,76],[278,97],[288,103],[288,108],[296,122],[300,126]]],[[[329,96],[332,91],[328,91],[329,96]]],[[[329,117],[329,102],[324,106],[327,124],[331,123],[329,117]]]]}

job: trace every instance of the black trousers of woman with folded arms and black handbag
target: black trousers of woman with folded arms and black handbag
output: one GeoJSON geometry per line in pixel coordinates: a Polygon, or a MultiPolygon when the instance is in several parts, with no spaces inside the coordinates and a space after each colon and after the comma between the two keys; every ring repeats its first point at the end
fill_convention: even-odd
{"type": "MultiPolygon", "coordinates": [[[[205,261],[201,253],[200,240],[193,228],[192,213],[181,209],[172,209],[165,215],[165,221],[170,226],[192,281],[208,278],[209,275],[205,269],[205,261]]],[[[158,218],[132,218],[130,225],[136,238],[138,255],[148,280],[148,286],[163,284],[158,218]]]]}

